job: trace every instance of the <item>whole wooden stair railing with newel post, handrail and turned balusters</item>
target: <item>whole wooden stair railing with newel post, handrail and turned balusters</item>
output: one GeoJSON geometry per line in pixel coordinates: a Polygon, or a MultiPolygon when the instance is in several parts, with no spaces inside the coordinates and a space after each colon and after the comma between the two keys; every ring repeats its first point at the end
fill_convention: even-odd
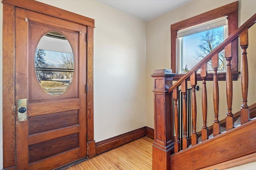
{"type": "Polygon", "coordinates": [[[209,55],[202,61],[188,71],[182,78],[180,78],[174,85],[172,85],[171,70],[162,69],[155,70],[152,77],[154,78],[154,144],[153,144],[153,170],[170,170],[170,155],[180,151],[180,138],[182,138],[182,149],[189,147],[188,131],[187,131],[187,90],[188,80],[192,87],[191,94],[191,111],[192,111],[192,146],[198,143],[198,133],[196,131],[196,75],[200,69],[200,76],[202,78],[202,117],[203,126],[201,131],[202,141],[206,141],[209,137],[207,126],[207,63],[212,61],[213,69],[213,106],[214,106],[214,123],[213,135],[220,134],[220,121],[218,120],[219,112],[219,87],[218,87],[218,53],[224,49],[226,65],[226,98],[227,108],[226,113],[226,131],[234,127],[234,116],[232,113],[232,99],[233,99],[233,85],[232,85],[232,42],[240,37],[240,47],[242,49],[241,59],[241,82],[242,82],[242,106],[241,106],[241,124],[249,121],[249,108],[247,105],[248,96],[248,29],[256,22],[256,14],[254,14],[248,21],[232,33],[225,41],[216,47],[209,55]],[[178,97],[179,88],[182,92],[182,119],[183,125],[179,123],[178,114],[178,97]],[[183,126],[183,128],[180,128],[183,126]],[[180,136],[179,129],[183,130],[183,137],[180,136]],[[175,135],[174,135],[175,133],[175,135]]]}

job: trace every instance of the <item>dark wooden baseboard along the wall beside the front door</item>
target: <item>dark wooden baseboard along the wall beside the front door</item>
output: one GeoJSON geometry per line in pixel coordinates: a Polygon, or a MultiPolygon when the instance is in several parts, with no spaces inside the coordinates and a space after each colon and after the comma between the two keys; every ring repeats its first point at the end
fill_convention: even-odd
{"type": "Polygon", "coordinates": [[[141,127],[139,129],[96,142],[96,155],[115,149],[144,136],[146,136],[146,127],[141,127]]]}

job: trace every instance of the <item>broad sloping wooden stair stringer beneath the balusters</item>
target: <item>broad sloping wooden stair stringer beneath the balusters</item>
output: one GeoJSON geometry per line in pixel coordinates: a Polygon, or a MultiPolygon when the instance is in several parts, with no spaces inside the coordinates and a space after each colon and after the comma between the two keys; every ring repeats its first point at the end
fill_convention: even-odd
{"type": "Polygon", "coordinates": [[[170,156],[171,170],[195,170],[256,152],[256,118],[170,156]]]}

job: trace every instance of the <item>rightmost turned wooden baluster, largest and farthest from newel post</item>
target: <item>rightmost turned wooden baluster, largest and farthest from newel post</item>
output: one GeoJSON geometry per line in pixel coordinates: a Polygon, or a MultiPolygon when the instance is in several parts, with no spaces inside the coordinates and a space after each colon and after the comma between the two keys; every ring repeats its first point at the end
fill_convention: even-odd
{"type": "Polygon", "coordinates": [[[248,29],[244,30],[240,34],[240,47],[242,49],[242,61],[241,61],[241,82],[242,82],[242,96],[243,104],[241,106],[241,125],[249,121],[250,110],[247,105],[248,95],[248,62],[247,52],[248,48],[248,29]]]}

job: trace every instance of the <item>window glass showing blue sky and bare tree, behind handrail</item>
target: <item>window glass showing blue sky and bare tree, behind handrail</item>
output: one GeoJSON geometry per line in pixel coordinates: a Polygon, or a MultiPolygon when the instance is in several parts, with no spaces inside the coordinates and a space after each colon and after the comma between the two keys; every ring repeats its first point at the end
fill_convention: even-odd
{"type": "MultiPolygon", "coordinates": [[[[192,35],[180,37],[180,73],[188,72],[199,61],[204,59],[220,43],[224,41],[224,26],[192,35]]],[[[224,70],[224,53],[219,53],[219,70],[224,70]]],[[[212,70],[211,61],[208,62],[208,70],[212,70]]]]}

